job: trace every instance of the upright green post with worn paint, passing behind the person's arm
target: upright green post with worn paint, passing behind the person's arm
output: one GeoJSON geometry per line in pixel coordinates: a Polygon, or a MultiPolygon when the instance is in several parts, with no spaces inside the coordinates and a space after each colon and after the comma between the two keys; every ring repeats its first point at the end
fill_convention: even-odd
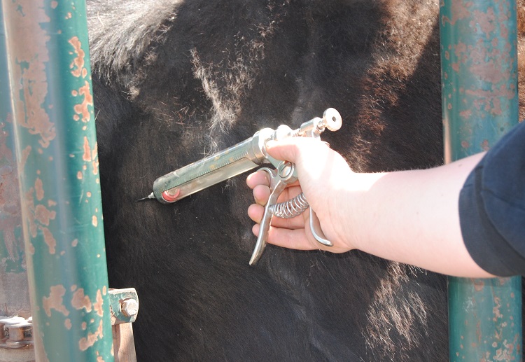
{"type": "MultiPolygon", "coordinates": [[[[515,0],[440,5],[445,162],[518,123],[515,0]]],[[[449,360],[521,361],[521,278],[449,278],[449,360]]]]}

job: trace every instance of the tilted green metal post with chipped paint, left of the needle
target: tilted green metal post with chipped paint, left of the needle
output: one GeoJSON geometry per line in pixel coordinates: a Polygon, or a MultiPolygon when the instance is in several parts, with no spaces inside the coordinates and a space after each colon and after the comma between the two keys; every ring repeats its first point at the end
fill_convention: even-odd
{"type": "Polygon", "coordinates": [[[113,361],[85,1],[3,0],[37,361],[113,361]]]}

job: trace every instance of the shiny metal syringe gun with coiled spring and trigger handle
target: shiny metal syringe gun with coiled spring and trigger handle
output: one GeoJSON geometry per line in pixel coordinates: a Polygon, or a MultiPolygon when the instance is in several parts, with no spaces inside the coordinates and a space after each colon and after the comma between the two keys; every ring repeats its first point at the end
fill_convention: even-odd
{"type": "MultiPolygon", "coordinates": [[[[342,119],[335,109],[326,109],[323,113],[323,118],[313,118],[297,128],[291,130],[286,125],[280,125],[276,130],[271,128],[264,128],[253,134],[250,137],[235,146],[226,148],[223,151],[209,155],[202,160],[191,163],[180,169],[176,169],[169,174],[160,176],[153,183],[153,193],[146,197],[146,199],[157,199],[159,202],[169,204],[179,201],[186,196],[197,193],[198,191],[213,186],[216,183],[230,179],[243,172],[246,172],[261,165],[273,165],[276,170],[266,169],[270,176],[270,200],[265,207],[265,215],[261,222],[261,228],[255,251],[250,260],[250,264],[255,263],[262,251],[264,250],[267,232],[269,230],[269,222],[273,215],[279,217],[292,217],[304,211],[308,207],[304,195],[300,200],[288,200],[286,203],[276,204],[276,199],[286,184],[295,182],[297,174],[295,172],[295,165],[291,162],[275,160],[266,153],[265,144],[269,140],[279,141],[288,137],[314,137],[320,139],[321,133],[328,128],[331,131],[337,131],[342,125],[342,119]],[[302,209],[299,211],[292,211],[292,209],[302,209]],[[286,212],[288,211],[288,212],[286,212]],[[293,215],[291,215],[293,214],[293,215]]],[[[300,195],[300,196],[301,196],[300,195]]],[[[315,216],[315,214],[312,214],[315,216]]],[[[312,219],[313,217],[311,217],[312,219]]],[[[311,225],[314,235],[321,234],[320,228],[314,224],[311,225]],[[317,230],[314,230],[317,229],[317,230]],[[317,231],[317,232],[316,232],[317,231]]],[[[323,237],[320,237],[323,239],[323,237]]],[[[319,239],[318,239],[319,240],[319,239]]],[[[323,244],[328,241],[323,239],[323,244]]],[[[321,242],[321,240],[319,240],[321,242]]],[[[328,242],[330,243],[330,242],[328,242]]],[[[327,244],[329,245],[329,244],[327,244]]]]}

